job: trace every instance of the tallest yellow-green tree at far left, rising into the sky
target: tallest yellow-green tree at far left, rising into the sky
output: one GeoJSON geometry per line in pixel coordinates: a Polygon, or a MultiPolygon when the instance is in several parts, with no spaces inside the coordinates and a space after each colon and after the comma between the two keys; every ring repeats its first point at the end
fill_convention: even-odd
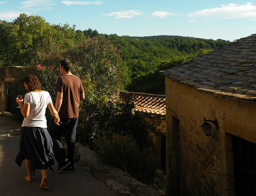
{"type": "Polygon", "coordinates": [[[4,65],[26,65],[35,57],[36,48],[42,40],[52,33],[50,24],[42,17],[20,14],[6,31],[8,48],[4,50],[4,65]]]}

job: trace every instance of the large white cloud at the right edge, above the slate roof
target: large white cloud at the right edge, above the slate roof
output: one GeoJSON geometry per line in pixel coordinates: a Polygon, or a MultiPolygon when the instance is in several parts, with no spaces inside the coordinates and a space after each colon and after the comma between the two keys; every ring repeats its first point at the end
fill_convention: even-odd
{"type": "Polygon", "coordinates": [[[234,19],[234,18],[249,18],[250,20],[256,20],[256,6],[252,3],[247,3],[245,5],[239,4],[228,4],[220,5],[216,8],[207,8],[204,10],[199,10],[196,12],[191,12],[187,14],[190,18],[204,17],[207,19],[220,18],[220,19],[234,19]]]}

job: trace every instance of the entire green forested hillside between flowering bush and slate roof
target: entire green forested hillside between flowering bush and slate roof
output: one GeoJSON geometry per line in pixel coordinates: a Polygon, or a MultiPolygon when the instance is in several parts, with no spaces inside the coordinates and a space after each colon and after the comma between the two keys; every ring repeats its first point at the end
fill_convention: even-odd
{"type": "MultiPolygon", "coordinates": [[[[77,30],[87,38],[96,38],[97,30],[77,30]]],[[[170,69],[190,57],[220,48],[230,42],[182,36],[131,37],[104,34],[122,55],[122,87],[127,91],[164,94],[160,69],[170,69]],[[161,81],[160,81],[161,80],[161,81]]]]}

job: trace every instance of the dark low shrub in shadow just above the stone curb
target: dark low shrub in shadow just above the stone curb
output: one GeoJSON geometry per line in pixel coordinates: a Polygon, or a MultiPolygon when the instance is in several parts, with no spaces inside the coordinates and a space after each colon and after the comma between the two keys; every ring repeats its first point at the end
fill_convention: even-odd
{"type": "Polygon", "coordinates": [[[103,135],[96,139],[96,152],[102,162],[126,171],[140,182],[150,184],[154,179],[156,161],[140,151],[131,137],[103,135]]]}

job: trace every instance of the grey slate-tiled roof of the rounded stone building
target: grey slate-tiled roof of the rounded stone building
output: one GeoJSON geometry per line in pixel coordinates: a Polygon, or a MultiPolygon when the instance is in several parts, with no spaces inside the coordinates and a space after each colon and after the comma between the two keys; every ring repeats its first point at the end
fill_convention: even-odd
{"type": "Polygon", "coordinates": [[[256,34],[160,73],[200,91],[256,101],[256,34]]]}

